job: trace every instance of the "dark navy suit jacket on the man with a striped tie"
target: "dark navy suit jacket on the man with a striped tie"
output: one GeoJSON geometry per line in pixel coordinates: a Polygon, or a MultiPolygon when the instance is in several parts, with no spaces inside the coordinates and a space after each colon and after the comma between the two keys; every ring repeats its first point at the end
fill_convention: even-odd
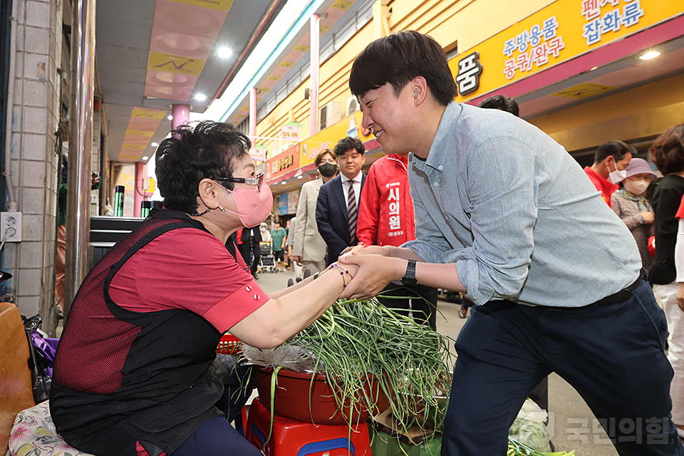
{"type": "MultiPolygon", "coordinates": [[[[361,190],[366,183],[366,175],[361,173],[361,190]]],[[[361,199],[359,199],[361,204],[361,199]]],[[[342,190],[342,177],[339,175],[321,186],[316,202],[316,224],[318,232],[328,244],[326,264],[337,261],[342,251],[350,246],[347,200],[342,190]]]]}

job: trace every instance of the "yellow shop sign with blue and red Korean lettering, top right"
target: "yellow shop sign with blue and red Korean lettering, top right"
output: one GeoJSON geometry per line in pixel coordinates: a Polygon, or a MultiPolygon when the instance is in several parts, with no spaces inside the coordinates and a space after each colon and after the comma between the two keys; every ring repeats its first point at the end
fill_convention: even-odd
{"type": "Polygon", "coordinates": [[[456,100],[477,98],[680,14],[678,1],[556,0],[452,58],[456,100]]]}

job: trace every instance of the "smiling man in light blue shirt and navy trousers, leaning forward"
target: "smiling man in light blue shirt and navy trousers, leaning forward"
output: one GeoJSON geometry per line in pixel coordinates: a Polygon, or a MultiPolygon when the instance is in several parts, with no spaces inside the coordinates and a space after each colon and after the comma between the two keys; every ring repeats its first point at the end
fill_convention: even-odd
{"type": "Polygon", "coordinates": [[[444,51],[417,32],[368,45],[350,88],[383,152],[413,152],[417,239],[343,256],[361,268],[346,294],[401,279],[479,304],[456,343],[442,455],[504,454],[524,399],[553,371],[621,454],[683,455],[663,311],[633,237],[575,160],[514,115],[455,103],[444,51]]]}

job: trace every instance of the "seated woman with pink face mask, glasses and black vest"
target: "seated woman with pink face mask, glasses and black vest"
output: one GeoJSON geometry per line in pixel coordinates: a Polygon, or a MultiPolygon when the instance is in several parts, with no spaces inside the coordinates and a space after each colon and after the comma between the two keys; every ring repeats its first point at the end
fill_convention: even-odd
{"type": "Polygon", "coordinates": [[[316,320],[357,268],[335,265],[315,284],[270,296],[259,288],[225,246],[271,212],[248,147],[232,125],[205,121],[157,149],[164,207],[93,267],[59,344],[51,415],[78,450],[261,455],[215,406],[224,385],[211,365],[222,333],[278,346],[316,320]]]}

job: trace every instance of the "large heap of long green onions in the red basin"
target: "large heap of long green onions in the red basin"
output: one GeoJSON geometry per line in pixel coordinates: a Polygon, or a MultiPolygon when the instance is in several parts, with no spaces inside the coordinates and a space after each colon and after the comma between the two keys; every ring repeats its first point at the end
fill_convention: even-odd
{"type": "Polygon", "coordinates": [[[306,348],[324,366],[341,408],[377,410],[377,395],[363,388],[373,378],[400,429],[418,425],[426,435],[442,429],[453,360],[449,339],[429,326],[376,299],[338,300],[287,343],[306,348]]]}

